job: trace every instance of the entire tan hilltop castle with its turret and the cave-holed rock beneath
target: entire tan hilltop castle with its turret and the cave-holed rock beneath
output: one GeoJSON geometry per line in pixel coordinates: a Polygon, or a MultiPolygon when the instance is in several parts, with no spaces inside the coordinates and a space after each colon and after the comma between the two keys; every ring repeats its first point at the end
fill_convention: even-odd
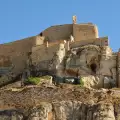
{"type": "Polygon", "coordinates": [[[32,64],[58,76],[81,76],[93,87],[120,87],[120,51],[114,53],[108,37],[99,37],[96,25],[78,24],[76,16],[72,20],[72,24],[51,26],[36,36],[1,44],[1,74],[7,74],[8,68],[19,74],[32,64]]]}

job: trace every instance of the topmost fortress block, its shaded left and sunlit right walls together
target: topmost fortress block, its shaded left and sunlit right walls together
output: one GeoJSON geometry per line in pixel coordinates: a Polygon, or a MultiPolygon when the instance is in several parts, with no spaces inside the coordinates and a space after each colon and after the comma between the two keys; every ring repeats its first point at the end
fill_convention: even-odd
{"type": "Polygon", "coordinates": [[[73,35],[76,41],[98,38],[98,29],[92,23],[88,24],[65,24],[47,28],[42,32],[49,41],[69,39],[73,35]]]}

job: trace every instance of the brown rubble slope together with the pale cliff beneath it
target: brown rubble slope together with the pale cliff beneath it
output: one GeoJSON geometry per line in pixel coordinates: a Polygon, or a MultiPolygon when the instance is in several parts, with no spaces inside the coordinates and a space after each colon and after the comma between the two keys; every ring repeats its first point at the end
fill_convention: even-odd
{"type": "Polygon", "coordinates": [[[120,120],[119,89],[1,88],[0,120],[120,120]]]}

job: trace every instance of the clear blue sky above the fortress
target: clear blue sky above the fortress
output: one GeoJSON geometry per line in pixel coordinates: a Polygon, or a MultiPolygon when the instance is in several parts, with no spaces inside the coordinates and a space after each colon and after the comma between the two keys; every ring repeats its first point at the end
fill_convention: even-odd
{"type": "Polygon", "coordinates": [[[0,0],[0,43],[39,34],[60,24],[92,22],[99,36],[108,36],[113,51],[120,47],[120,0],[0,0]]]}

